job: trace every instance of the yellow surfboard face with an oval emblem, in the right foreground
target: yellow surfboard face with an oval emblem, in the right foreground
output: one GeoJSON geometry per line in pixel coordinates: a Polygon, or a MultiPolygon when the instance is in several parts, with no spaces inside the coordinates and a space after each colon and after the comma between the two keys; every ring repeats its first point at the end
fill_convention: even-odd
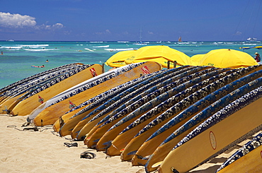
{"type": "Polygon", "coordinates": [[[193,167],[220,153],[246,133],[254,131],[262,124],[262,98],[223,119],[209,129],[191,138],[188,142],[172,150],[159,167],[159,172],[188,172],[193,167]],[[185,154],[190,153],[190,154],[185,154]]]}

